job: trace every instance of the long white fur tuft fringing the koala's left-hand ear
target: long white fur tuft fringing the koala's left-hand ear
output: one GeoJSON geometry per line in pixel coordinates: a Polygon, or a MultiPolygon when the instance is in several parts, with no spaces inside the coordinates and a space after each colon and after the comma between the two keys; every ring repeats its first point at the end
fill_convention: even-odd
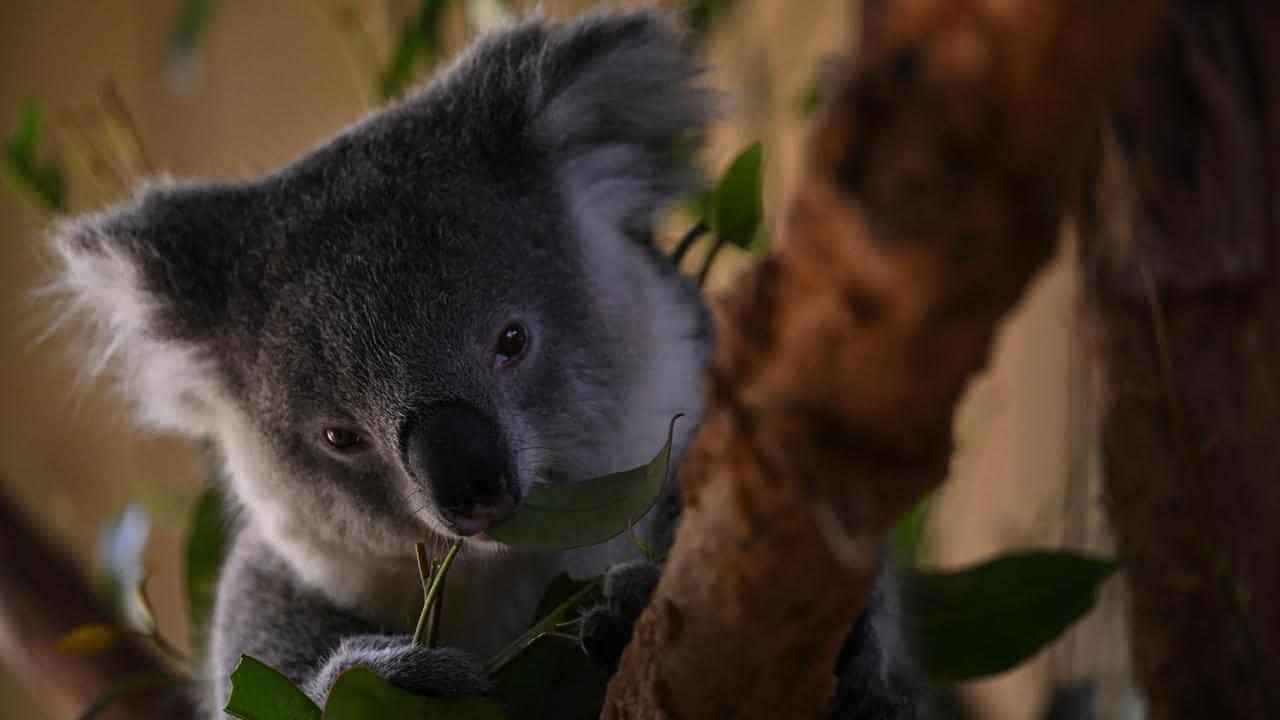
{"type": "Polygon", "coordinates": [[[151,187],[116,209],[61,224],[54,233],[58,275],[46,290],[61,305],[55,329],[68,320],[88,328],[79,359],[86,374],[110,369],[141,423],[198,436],[212,430],[212,352],[174,322],[183,304],[173,295],[173,278],[159,279],[189,266],[168,255],[191,240],[163,237],[183,231],[164,222],[180,192],[151,187]]]}

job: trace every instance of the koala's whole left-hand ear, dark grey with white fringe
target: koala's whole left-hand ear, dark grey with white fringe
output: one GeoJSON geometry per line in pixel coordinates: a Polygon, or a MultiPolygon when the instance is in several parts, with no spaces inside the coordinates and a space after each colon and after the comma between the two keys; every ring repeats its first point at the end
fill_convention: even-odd
{"type": "Polygon", "coordinates": [[[140,419],[191,434],[212,429],[215,337],[243,255],[243,190],[156,183],[54,236],[52,287],[64,319],[87,323],[90,374],[118,370],[140,419]]]}

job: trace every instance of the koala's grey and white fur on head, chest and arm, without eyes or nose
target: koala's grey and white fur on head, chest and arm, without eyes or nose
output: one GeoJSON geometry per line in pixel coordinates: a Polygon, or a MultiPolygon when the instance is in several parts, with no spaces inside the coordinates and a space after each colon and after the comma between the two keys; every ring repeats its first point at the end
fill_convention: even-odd
{"type": "Polygon", "coordinates": [[[567,553],[468,542],[440,630],[454,650],[412,648],[413,543],[454,533],[424,489],[448,479],[419,477],[402,436],[422,407],[462,404],[497,428],[524,493],[646,461],[677,413],[694,427],[708,318],[649,236],[694,179],[698,76],[653,13],[529,20],[276,173],[159,182],[61,228],[60,284],[141,420],[210,437],[224,460],[239,520],[211,711],[241,653],[317,701],[352,665],[475,692],[475,659],[527,626],[554,575],[630,555],[625,537],[567,553]],[[512,319],[531,341],[499,368],[512,319]],[[326,450],[334,424],[369,450],[326,450]]]}

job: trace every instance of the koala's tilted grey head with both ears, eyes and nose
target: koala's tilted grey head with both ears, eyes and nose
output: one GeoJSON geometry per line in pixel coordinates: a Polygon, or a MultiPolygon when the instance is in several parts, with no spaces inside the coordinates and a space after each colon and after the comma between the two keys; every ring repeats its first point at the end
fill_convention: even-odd
{"type": "Polygon", "coordinates": [[[216,438],[269,533],[479,533],[700,401],[704,313],[649,237],[696,79],[660,17],[529,22],[275,174],[70,223],[61,284],[140,416],[216,438]]]}

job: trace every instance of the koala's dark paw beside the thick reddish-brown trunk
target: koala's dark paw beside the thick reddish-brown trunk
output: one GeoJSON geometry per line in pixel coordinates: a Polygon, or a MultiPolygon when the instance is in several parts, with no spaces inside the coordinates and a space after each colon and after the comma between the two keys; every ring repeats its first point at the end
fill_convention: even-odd
{"type": "Polygon", "coordinates": [[[662,569],[652,562],[614,565],[604,575],[604,602],[582,612],[579,638],[598,667],[613,673],[631,642],[631,629],[649,605],[662,569]]]}

